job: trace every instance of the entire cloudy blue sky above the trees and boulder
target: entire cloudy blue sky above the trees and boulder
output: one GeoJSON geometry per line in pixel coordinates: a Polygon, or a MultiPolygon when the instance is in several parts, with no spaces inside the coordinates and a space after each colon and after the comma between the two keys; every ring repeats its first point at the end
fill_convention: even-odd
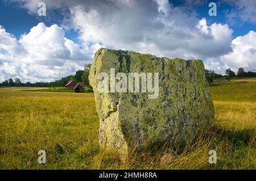
{"type": "Polygon", "coordinates": [[[39,2],[0,1],[0,81],[65,77],[100,47],[200,58],[217,73],[256,70],[253,0],[46,0],[47,16],[38,16],[39,2]],[[209,2],[217,16],[209,16],[209,2]]]}

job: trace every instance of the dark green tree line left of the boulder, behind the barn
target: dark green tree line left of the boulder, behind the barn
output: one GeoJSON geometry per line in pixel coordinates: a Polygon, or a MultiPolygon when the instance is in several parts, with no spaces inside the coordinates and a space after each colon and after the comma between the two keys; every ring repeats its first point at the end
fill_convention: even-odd
{"type": "Polygon", "coordinates": [[[73,79],[76,82],[83,82],[85,86],[89,86],[89,69],[91,64],[86,64],[84,70],[76,71],[75,75],[68,75],[67,77],[61,78],[54,82],[26,82],[22,83],[19,78],[6,79],[0,86],[11,86],[11,87],[63,87],[65,86],[70,79],[73,79]]]}

